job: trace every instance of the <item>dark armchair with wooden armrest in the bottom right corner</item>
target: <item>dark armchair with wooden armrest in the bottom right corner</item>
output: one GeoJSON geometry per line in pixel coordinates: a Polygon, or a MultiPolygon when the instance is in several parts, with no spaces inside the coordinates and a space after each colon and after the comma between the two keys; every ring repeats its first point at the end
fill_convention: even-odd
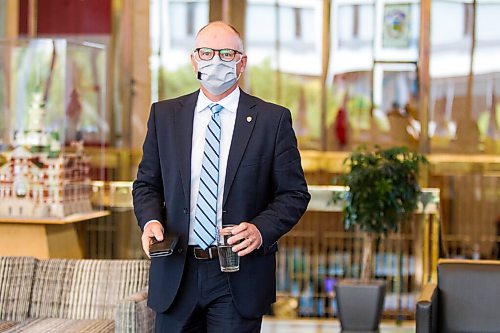
{"type": "Polygon", "coordinates": [[[500,332],[500,261],[440,260],[416,317],[417,333],[500,332]]]}

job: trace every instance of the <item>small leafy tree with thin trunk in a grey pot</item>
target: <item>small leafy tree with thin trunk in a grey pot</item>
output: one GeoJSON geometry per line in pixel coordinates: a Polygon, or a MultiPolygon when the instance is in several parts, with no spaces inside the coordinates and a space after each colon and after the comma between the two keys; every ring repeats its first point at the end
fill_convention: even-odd
{"type": "Polygon", "coordinates": [[[389,232],[397,231],[417,208],[422,163],[427,163],[425,157],[406,147],[375,147],[373,151],[361,147],[344,161],[349,167],[349,172],[340,177],[348,186],[344,228],[363,233],[360,279],[342,280],[335,286],[344,331],[378,330],[385,281],[373,280],[375,245],[389,232]]]}

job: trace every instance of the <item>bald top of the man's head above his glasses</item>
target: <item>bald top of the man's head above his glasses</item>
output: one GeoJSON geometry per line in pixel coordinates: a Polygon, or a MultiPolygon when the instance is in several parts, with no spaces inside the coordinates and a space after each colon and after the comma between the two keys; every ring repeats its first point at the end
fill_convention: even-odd
{"type": "Polygon", "coordinates": [[[198,31],[196,48],[233,49],[243,53],[240,33],[231,25],[222,21],[210,22],[198,31]]]}

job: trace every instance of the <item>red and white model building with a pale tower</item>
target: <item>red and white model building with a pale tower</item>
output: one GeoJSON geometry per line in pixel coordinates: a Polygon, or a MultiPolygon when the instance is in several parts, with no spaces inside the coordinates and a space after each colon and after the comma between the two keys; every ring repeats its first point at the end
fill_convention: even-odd
{"type": "Polygon", "coordinates": [[[90,158],[82,149],[62,153],[45,118],[42,96],[35,93],[26,128],[16,132],[12,150],[0,153],[0,216],[63,218],[92,209],[90,158]]]}

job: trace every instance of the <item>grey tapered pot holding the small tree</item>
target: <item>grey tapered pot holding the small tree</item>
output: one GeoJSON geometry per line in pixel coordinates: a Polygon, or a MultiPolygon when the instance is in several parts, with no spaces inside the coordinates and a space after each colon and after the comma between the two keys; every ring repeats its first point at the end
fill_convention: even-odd
{"type": "Polygon", "coordinates": [[[342,332],[378,332],[385,299],[385,281],[342,280],[335,295],[342,332]]]}

